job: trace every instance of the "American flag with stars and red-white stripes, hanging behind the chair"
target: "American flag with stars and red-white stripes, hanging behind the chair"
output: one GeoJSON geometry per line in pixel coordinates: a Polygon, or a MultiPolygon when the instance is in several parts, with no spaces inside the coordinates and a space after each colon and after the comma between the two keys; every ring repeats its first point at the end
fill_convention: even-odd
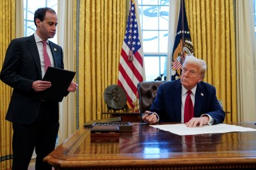
{"type": "Polygon", "coordinates": [[[119,77],[117,84],[121,86],[127,96],[127,106],[134,108],[133,101],[137,98],[137,84],[143,81],[143,49],[139,40],[139,31],[135,7],[135,0],[130,0],[129,16],[125,31],[125,38],[121,49],[119,62],[119,77]]]}

